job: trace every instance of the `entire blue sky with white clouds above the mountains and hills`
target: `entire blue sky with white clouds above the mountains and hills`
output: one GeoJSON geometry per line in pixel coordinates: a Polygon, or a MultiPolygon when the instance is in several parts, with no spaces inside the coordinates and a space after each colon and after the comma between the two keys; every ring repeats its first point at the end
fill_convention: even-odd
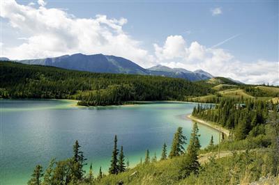
{"type": "MultiPolygon", "coordinates": [[[[78,51],[85,54],[114,54],[135,61],[143,67],[163,64],[188,70],[202,68],[213,75],[229,76],[247,83],[279,83],[278,1],[40,0],[3,4],[5,9],[1,15],[2,56],[15,59],[44,58],[78,51]],[[31,9],[28,10],[28,7],[31,9]],[[66,33],[66,29],[59,26],[65,18],[61,17],[61,22],[54,28],[52,22],[55,15],[52,17],[50,11],[53,9],[65,13],[71,20],[98,21],[100,27],[89,26],[93,28],[92,32],[96,31],[96,34],[92,35],[92,42],[89,44],[80,40],[73,43],[68,41],[71,38],[70,34],[74,34],[72,32],[75,26],[80,24],[73,26],[69,22],[70,29],[66,33]],[[33,15],[27,15],[24,11],[44,12],[49,18],[43,17],[43,21],[51,22],[52,25],[45,23],[45,26],[36,26],[42,24],[38,23],[40,19],[33,20],[32,17],[28,17],[33,15]],[[15,16],[18,14],[25,17],[20,18],[24,19],[23,23],[15,16]],[[96,15],[106,17],[98,19],[96,15]],[[28,28],[22,29],[25,26],[28,28]],[[33,29],[30,28],[32,26],[33,29]],[[54,37],[53,42],[61,45],[56,51],[52,51],[52,43],[47,44],[50,48],[42,47],[43,52],[40,51],[40,47],[36,47],[37,42],[34,40],[44,40],[42,35],[50,33],[42,31],[44,27],[51,32],[49,37],[54,37]],[[109,36],[103,35],[106,31],[109,36]],[[99,40],[96,36],[98,34],[103,35],[105,41],[99,40]],[[128,39],[123,38],[123,35],[128,39]],[[115,37],[117,43],[110,40],[115,37]],[[75,48],[71,45],[80,47],[75,48]],[[112,45],[114,47],[111,47],[112,45]],[[92,49],[84,49],[85,47],[92,49]],[[127,47],[125,51],[119,51],[119,48],[124,47],[127,47]],[[29,54],[15,54],[15,51],[24,53],[23,49],[29,49],[29,54]]],[[[84,28],[88,29],[86,26],[84,28]]],[[[92,32],[77,31],[89,36],[89,39],[92,32]]]]}

